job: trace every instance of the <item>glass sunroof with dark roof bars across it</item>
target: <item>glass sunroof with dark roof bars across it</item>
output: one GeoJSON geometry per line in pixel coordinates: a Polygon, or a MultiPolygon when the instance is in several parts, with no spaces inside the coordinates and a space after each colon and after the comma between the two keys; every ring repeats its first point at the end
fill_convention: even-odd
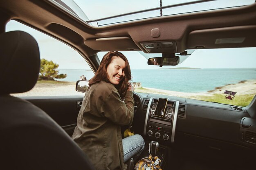
{"type": "Polygon", "coordinates": [[[243,7],[255,0],[54,0],[92,26],[243,7]],[[60,3],[64,2],[64,3],[60,3]],[[63,5],[64,4],[64,5],[63,5]],[[67,7],[68,6],[68,7],[67,7]]]}

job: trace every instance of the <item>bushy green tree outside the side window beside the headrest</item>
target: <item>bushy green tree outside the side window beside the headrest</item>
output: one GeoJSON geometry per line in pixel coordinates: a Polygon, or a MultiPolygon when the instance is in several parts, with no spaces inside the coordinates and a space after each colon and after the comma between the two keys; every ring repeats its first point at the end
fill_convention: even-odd
{"type": "Polygon", "coordinates": [[[67,74],[58,74],[58,64],[52,60],[41,59],[39,78],[43,80],[54,80],[56,78],[65,78],[67,74]]]}

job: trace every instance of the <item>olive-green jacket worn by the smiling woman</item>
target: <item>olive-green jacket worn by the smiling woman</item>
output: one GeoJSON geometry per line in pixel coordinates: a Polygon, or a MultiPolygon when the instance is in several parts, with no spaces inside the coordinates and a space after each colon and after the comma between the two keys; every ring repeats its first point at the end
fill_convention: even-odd
{"type": "Polygon", "coordinates": [[[132,123],[133,111],[133,92],[127,91],[123,102],[111,83],[88,87],[72,138],[96,170],[126,169],[120,126],[132,123]]]}

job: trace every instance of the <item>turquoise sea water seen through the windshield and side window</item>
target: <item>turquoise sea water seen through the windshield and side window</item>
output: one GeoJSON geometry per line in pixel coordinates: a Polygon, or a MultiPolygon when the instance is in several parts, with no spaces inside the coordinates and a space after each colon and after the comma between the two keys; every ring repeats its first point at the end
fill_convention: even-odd
{"type": "MultiPolygon", "coordinates": [[[[155,69],[131,70],[132,82],[142,87],[164,89],[176,92],[207,92],[240,81],[256,80],[256,68],[244,69],[155,69]]],[[[94,76],[92,70],[60,69],[67,74],[59,81],[78,81],[84,75],[87,80],[94,76]]]]}

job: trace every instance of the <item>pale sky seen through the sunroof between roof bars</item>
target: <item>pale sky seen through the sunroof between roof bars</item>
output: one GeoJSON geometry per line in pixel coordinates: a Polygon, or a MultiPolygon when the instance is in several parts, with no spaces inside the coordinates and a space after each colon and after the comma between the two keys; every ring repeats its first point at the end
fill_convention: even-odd
{"type": "MultiPolygon", "coordinates": [[[[63,0],[65,2],[65,0],[63,0]]],[[[199,1],[199,0],[162,0],[162,7],[181,4],[186,2],[199,1]]],[[[100,19],[104,17],[110,17],[123,13],[129,13],[134,11],[141,11],[144,9],[152,9],[160,7],[160,0],[74,0],[76,4],[82,9],[89,20],[100,19]]],[[[173,7],[169,9],[163,9],[163,15],[171,15],[176,13],[201,11],[207,9],[218,9],[224,7],[235,7],[246,4],[254,3],[254,0],[217,0],[211,2],[203,2],[200,4],[191,4],[182,7],[173,7]]],[[[124,16],[126,20],[146,17],[159,16],[159,10],[150,11],[146,13],[139,13],[129,16],[124,16]]],[[[112,22],[120,21],[121,18],[110,19],[112,22]],[[120,20],[119,20],[120,19],[120,20]]],[[[100,23],[103,21],[100,21],[100,23]]],[[[108,21],[106,21],[108,22],[108,21]]],[[[104,22],[103,22],[104,23],[104,22]]],[[[102,23],[102,24],[103,24],[102,23]]],[[[96,26],[96,24],[93,24],[96,26]]]]}

